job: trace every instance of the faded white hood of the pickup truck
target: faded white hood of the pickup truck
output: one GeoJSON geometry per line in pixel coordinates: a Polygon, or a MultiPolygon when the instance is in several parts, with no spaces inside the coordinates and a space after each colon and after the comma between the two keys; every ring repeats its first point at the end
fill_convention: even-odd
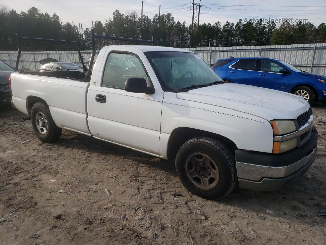
{"type": "Polygon", "coordinates": [[[237,83],[180,92],[177,98],[245,112],[268,121],[294,120],[310,107],[306,100],[290,93],[237,83]]]}

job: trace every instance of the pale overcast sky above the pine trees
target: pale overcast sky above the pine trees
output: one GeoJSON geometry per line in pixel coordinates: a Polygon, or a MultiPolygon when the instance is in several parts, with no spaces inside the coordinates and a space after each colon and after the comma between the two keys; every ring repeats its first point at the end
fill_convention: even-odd
{"type": "MultiPolygon", "coordinates": [[[[74,22],[74,24],[77,26],[79,26],[79,23],[82,22],[83,28],[91,27],[92,21],[96,20],[100,20],[104,24],[108,18],[112,17],[112,13],[115,9],[120,10],[122,13],[136,10],[139,13],[139,16],[141,15],[141,1],[139,0],[0,0],[0,3],[1,1],[2,4],[7,5],[9,9],[15,9],[17,12],[27,11],[31,7],[36,7],[42,12],[50,13],[50,15],[56,13],[60,16],[62,22],[74,22]]],[[[161,14],[170,12],[176,21],[185,21],[188,25],[191,24],[192,20],[192,5],[190,5],[189,2],[189,0],[143,1],[143,14],[153,18],[155,14],[158,14],[159,5],[161,5],[161,14]]],[[[195,3],[196,2],[199,3],[199,0],[196,0],[195,3]]],[[[261,0],[202,0],[201,5],[203,7],[200,11],[200,24],[214,24],[215,22],[220,21],[223,25],[228,20],[230,22],[236,23],[240,18],[244,20],[245,18],[259,19],[259,17],[272,19],[292,17],[293,20],[309,19],[309,21],[312,22],[316,27],[320,23],[326,22],[326,7],[324,7],[326,6],[325,0],[275,0],[272,2],[261,0]],[[261,4],[263,6],[260,6],[261,4]],[[273,7],[302,5],[304,5],[304,7],[273,7]]]]}

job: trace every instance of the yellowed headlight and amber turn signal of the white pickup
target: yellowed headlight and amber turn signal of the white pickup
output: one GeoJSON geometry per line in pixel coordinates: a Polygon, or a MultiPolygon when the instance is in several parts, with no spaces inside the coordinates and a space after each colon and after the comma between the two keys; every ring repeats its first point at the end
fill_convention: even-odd
{"type": "MultiPolygon", "coordinates": [[[[274,135],[289,134],[297,130],[292,120],[273,120],[270,121],[274,135]]],[[[273,142],[273,153],[283,153],[297,147],[297,138],[282,142],[273,142]]]]}

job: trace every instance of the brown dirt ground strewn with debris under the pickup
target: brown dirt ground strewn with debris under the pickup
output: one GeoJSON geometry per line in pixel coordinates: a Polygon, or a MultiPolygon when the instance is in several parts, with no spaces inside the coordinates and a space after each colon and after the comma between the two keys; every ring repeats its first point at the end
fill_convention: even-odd
{"type": "Polygon", "coordinates": [[[208,201],[166,160],[67,130],[45,144],[1,108],[0,244],[326,244],[326,107],[313,113],[319,150],[303,177],[208,201]]]}

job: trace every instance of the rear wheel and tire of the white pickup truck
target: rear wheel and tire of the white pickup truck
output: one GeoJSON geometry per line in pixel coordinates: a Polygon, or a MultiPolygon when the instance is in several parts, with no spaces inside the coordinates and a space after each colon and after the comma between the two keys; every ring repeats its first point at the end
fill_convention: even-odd
{"type": "Polygon", "coordinates": [[[49,107],[43,102],[37,102],[32,107],[31,121],[37,138],[42,142],[51,143],[60,138],[62,128],[55,125],[49,107]]]}

